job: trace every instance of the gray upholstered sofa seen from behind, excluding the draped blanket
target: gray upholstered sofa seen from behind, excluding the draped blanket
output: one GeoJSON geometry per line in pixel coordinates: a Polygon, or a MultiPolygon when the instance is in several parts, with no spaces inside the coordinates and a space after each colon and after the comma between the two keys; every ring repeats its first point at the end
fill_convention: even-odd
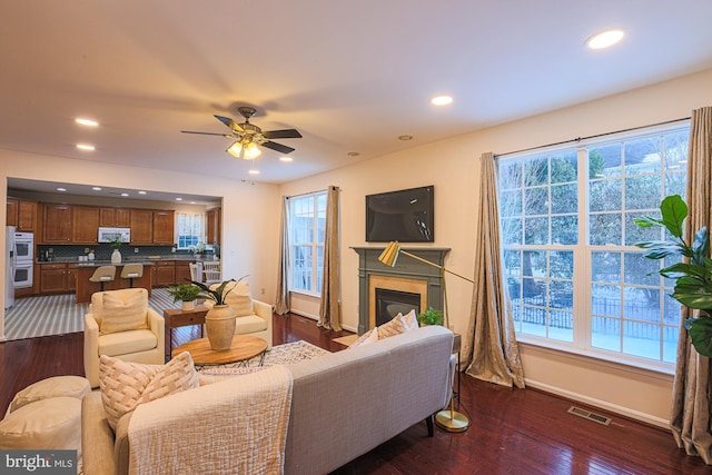
{"type": "MultiPolygon", "coordinates": [[[[294,386],[285,473],[326,474],[417,423],[425,437],[426,419],[432,435],[432,415],[451,396],[452,348],[453,333],[432,326],[288,365],[294,386]]],[[[82,400],[81,417],[85,474],[128,473],[131,413],[115,436],[93,392],[82,400]]]]}

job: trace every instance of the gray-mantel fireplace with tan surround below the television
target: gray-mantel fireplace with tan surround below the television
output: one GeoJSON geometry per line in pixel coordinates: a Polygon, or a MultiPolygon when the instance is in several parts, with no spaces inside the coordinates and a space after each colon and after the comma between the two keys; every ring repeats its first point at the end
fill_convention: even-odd
{"type": "MultiPolygon", "coordinates": [[[[386,289],[395,293],[415,294],[419,297],[421,310],[433,307],[443,308],[443,281],[441,270],[437,267],[428,266],[407,256],[402,256],[395,267],[388,267],[378,260],[383,248],[376,247],[353,247],[358,254],[358,334],[362,335],[374,326],[380,325],[377,321],[378,313],[377,289],[386,289]]],[[[445,256],[449,251],[447,248],[404,248],[438,266],[444,265],[445,256]]],[[[415,303],[415,297],[413,300],[415,303]]],[[[405,305],[413,304],[405,303],[405,305]]],[[[395,307],[394,307],[395,308],[395,307]]],[[[404,307],[405,308],[405,307],[404,307]]],[[[409,311],[408,308],[406,311],[409,311]]],[[[400,310],[397,310],[395,315],[400,310]]],[[[418,311],[418,310],[416,310],[418,311]]],[[[405,314],[405,313],[404,313],[405,314]]],[[[382,317],[385,318],[385,317],[382,317]]],[[[390,317],[393,318],[393,317],[390,317]]]]}

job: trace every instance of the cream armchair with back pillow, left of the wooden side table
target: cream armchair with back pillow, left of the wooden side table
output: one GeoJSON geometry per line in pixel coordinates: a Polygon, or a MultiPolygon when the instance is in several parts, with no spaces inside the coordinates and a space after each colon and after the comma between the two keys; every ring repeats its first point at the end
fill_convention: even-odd
{"type": "Polygon", "coordinates": [[[98,291],[85,316],[85,375],[99,386],[99,356],[162,365],[166,323],[148,306],[145,288],[98,291]]]}

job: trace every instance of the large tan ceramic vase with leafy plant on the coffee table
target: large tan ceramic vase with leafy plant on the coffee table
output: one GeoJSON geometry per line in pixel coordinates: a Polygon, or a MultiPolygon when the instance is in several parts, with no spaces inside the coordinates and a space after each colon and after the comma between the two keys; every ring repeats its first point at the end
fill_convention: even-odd
{"type": "Polygon", "coordinates": [[[211,289],[202,283],[191,281],[192,285],[200,289],[198,297],[212,301],[212,305],[209,306],[210,308],[205,316],[205,329],[208,334],[210,348],[218,352],[230,349],[233,336],[235,335],[235,310],[226,304],[226,297],[235,289],[237,283],[226,291],[225,288],[230,283],[235,283],[235,279],[225,280],[211,289]]]}

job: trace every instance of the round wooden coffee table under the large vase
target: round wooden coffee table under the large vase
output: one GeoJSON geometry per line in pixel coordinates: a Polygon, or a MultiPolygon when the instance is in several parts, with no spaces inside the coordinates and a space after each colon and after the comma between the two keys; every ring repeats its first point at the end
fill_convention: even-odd
{"type": "Polygon", "coordinates": [[[192,342],[185,343],[174,348],[170,353],[171,357],[176,357],[179,353],[188,352],[196,365],[226,365],[229,363],[243,363],[247,366],[248,362],[256,356],[260,356],[259,366],[265,363],[265,352],[267,350],[267,342],[256,336],[235,335],[229,349],[216,352],[210,348],[208,338],[198,338],[192,342]]]}

